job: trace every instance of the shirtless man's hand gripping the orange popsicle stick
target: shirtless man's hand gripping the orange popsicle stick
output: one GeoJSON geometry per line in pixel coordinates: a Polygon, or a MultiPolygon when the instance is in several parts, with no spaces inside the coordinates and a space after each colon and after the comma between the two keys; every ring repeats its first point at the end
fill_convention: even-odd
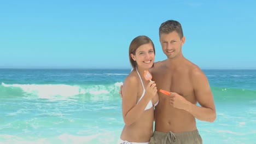
{"type": "Polygon", "coordinates": [[[186,110],[189,106],[189,101],[177,93],[170,94],[170,105],[177,109],[186,110]]]}

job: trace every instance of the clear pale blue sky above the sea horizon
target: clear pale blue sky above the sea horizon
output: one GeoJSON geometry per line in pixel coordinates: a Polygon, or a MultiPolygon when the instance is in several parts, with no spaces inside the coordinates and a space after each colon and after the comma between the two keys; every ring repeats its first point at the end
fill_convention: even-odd
{"type": "Polygon", "coordinates": [[[256,1],[1,1],[0,68],[131,68],[130,42],[183,26],[183,55],[202,69],[256,69],[256,1]]]}

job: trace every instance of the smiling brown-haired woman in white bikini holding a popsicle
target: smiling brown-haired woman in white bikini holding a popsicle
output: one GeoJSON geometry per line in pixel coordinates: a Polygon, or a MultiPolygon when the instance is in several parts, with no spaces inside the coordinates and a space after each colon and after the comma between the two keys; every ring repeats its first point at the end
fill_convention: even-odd
{"type": "Polygon", "coordinates": [[[133,70],[125,78],[122,94],[124,129],[118,143],[148,143],[153,135],[154,106],[158,94],[154,81],[144,78],[144,70],[153,67],[155,47],[147,36],[131,41],[129,58],[133,70]]]}

